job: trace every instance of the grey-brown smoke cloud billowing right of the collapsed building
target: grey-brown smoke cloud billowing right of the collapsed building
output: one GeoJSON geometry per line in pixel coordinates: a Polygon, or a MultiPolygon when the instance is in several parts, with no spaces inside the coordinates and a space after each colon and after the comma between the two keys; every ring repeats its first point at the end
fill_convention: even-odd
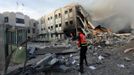
{"type": "Polygon", "coordinates": [[[96,24],[114,32],[130,30],[134,25],[134,0],[76,0],[96,24]]]}

